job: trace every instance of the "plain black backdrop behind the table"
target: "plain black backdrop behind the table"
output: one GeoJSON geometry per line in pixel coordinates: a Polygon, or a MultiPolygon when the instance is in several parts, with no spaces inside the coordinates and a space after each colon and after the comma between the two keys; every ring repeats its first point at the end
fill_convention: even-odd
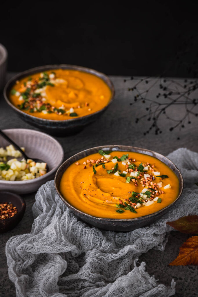
{"type": "Polygon", "coordinates": [[[193,1],[19,1],[1,6],[8,70],[75,64],[108,75],[197,76],[193,1]]]}

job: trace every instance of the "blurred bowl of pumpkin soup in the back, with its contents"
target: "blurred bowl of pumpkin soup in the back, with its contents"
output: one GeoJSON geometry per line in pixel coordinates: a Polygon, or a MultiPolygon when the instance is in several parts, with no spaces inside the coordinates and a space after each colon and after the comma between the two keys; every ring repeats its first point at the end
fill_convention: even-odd
{"type": "Polygon", "coordinates": [[[96,70],[47,65],[21,72],[4,88],[7,103],[50,134],[72,134],[96,121],[113,101],[111,80],[96,70]]]}

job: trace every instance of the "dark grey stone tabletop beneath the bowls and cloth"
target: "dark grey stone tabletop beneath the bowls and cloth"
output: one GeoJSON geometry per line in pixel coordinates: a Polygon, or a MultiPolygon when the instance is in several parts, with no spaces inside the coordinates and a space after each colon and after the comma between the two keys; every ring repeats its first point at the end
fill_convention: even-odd
{"type": "MultiPolygon", "coordinates": [[[[9,74],[9,77],[12,74],[9,74]]],[[[198,151],[198,131],[197,118],[191,117],[191,124],[186,125],[184,129],[169,131],[170,122],[162,117],[159,120],[159,127],[163,133],[155,135],[154,132],[143,135],[147,130],[148,121],[140,121],[135,124],[135,118],[142,114],[146,105],[137,103],[130,106],[133,102],[130,87],[131,82],[124,83],[123,77],[111,77],[115,85],[115,100],[108,110],[102,115],[98,122],[91,124],[85,129],[73,136],[64,138],[57,137],[65,151],[65,159],[73,154],[88,149],[93,146],[106,144],[123,144],[144,147],[167,155],[171,151],[186,147],[193,151],[198,151]],[[180,136],[180,140],[177,137],[180,136]]],[[[156,87],[156,91],[158,88],[156,87]]],[[[154,94],[153,93],[153,99],[154,94]]],[[[182,106],[172,106],[170,112],[172,115],[182,114],[182,106]]],[[[23,122],[14,111],[9,108],[1,94],[0,99],[0,123],[1,129],[7,128],[28,128],[36,129],[29,124],[23,122]]],[[[15,286],[9,280],[7,272],[7,263],[5,256],[5,245],[7,240],[15,235],[29,233],[33,222],[31,206],[34,203],[35,193],[23,195],[26,200],[26,212],[22,221],[15,229],[0,235],[0,296],[16,296],[15,286]]],[[[198,296],[198,267],[197,266],[168,266],[168,264],[177,257],[179,247],[190,236],[177,231],[172,231],[169,235],[168,242],[164,252],[158,250],[150,250],[146,254],[141,255],[139,262],[146,262],[146,270],[149,274],[155,275],[159,282],[170,285],[173,279],[176,280],[175,296],[198,296]]]]}

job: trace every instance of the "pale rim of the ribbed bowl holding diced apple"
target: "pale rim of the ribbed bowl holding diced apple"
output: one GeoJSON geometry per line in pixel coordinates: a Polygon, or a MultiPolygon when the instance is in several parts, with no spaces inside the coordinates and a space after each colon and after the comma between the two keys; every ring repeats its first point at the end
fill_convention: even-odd
{"type": "Polygon", "coordinates": [[[28,132],[28,131],[34,131],[34,133],[38,134],[38,135],[43,135],[45,134],[45,136],[47,136],[47,138],[51,138],[53,139],[59,146],[59,148],[61,149],[61,154],[62,154],[62,157],[61,157],[61,161],[58,163],[58,165],[56,165],[56,167],[54,167],[52,170],[48,171],[46,174],[44,174],[43,176],[39,176],[37,178],[33,178],[33,179],[28,179],[28,180],[25,180],[25,181],[5,181],[5,180],[0,180],[0,185],[1,184],[5,184],[5,183],[10,183],[11,185],[23,185],[23,184],[31,184],[33,181],[38,181],[38,178],[39,178],[39,181],[41,181],[42,179],[45,179],[46,176],[49,176],[50,174],[56,172],[57,168],[60,166],[60,164],[63,162],[63,159],[64,159],[64,150],[63,150],[63,147],[61,146],[60,142],[58,140],[56,140],[54,137],[50,136],[49,134],[47,133],[44,133],[44,132],[40,132],[40,131],[37,131],[37,130],[33,130],[33,129],[23,129],[23,128],[10,128],[10,129],[4,129],[3,131],[4,132],[8,132],[8,131],[13,131],[13,130],[18,130],[19,132],[20,131],[25,131],[25,132],[28,132]]]}

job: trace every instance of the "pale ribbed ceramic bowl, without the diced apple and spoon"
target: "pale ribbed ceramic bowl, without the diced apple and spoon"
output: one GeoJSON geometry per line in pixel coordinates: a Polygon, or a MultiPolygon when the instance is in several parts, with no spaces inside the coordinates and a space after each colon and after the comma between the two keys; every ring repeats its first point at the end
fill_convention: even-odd
{"type": "MultiPolygon", "coordinates": [[[[29,129],[6,129],[4,133],[12,138],[20,147],[25,147],[28,157],[38,158],[45,162],[49,171],[38,178],[26,181],[3,181],[0,180],[0,191],[15,192],[17,194],[31,193],[54,178],[56,170],[63,162],[64,151],[61,144],[53,137],[43,132],[29,129]]],[[[0,147],[9,143],[0,135],[0,147]]]]}

